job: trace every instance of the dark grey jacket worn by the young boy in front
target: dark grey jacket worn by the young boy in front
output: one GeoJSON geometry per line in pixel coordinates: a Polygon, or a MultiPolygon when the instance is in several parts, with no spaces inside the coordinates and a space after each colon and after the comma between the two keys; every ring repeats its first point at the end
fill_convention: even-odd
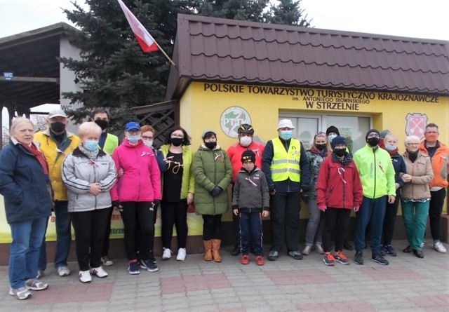
{"type": "Polygon", "coordinates": [[[232,194],[232,208],[239,212],[269,211],[269,190],[264,172],[255,167],[248,172],[241,168],[232,194]]]}

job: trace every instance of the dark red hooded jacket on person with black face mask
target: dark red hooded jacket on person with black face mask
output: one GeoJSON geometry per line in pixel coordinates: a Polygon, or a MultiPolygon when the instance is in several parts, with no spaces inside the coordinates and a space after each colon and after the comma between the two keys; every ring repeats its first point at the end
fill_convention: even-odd
{"type": "Polygon", "coordinates": [[[362,197],[362,184],[354,161],[342,165],[335,155],[326,158],[316,182],[317,205],[352,209],[361,205],[362,197]]]}

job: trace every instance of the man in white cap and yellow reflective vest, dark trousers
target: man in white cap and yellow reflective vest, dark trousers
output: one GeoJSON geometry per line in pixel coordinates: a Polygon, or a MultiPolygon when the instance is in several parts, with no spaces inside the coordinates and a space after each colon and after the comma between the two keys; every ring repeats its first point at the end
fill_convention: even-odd
{"type": "Polygon", "coordinates": [[[279,257],[284,239],[293,259],[302,259],[300,240],[300,210],[302,192],[309,190],[309,160],[302,143],[293,139],[290,119],[278,124],[279,137],[269,140],[262,155],[262,171],[270,192],[272,247],[269,260],[279,257]]]}

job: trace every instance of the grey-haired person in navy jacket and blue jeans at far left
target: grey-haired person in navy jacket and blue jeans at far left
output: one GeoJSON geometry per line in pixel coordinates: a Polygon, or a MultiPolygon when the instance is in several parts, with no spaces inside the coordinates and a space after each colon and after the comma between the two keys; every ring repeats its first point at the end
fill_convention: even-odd
{"type": "Polygon", "coordinates": [[[29,290],[45,290],[36,279],[39,248],[53,203],[48,165],[33,143],[34,125],[27,118],[11,124],[11,142],[0,151],[0,194],[11,227],[9,294],[27,299],[29,290]]]}

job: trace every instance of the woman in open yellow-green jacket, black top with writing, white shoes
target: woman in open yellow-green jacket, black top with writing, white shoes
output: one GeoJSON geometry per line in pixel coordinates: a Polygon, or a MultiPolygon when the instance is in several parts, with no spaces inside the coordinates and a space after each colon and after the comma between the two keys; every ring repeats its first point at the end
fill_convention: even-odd
{"type": "Polygon", "coordinates": [[[168,133],[161,151],[166,159],[167,169],[163,172],[162,186],[162,259],[171,258],[171,239],[173,224],[177,233],[178,261],[186,257],[187,241],[187,206],[194,201],[195,179],[192,167],[192,151],[189,149],[190,137],[186,130],[175,126],[168,133]]]}

